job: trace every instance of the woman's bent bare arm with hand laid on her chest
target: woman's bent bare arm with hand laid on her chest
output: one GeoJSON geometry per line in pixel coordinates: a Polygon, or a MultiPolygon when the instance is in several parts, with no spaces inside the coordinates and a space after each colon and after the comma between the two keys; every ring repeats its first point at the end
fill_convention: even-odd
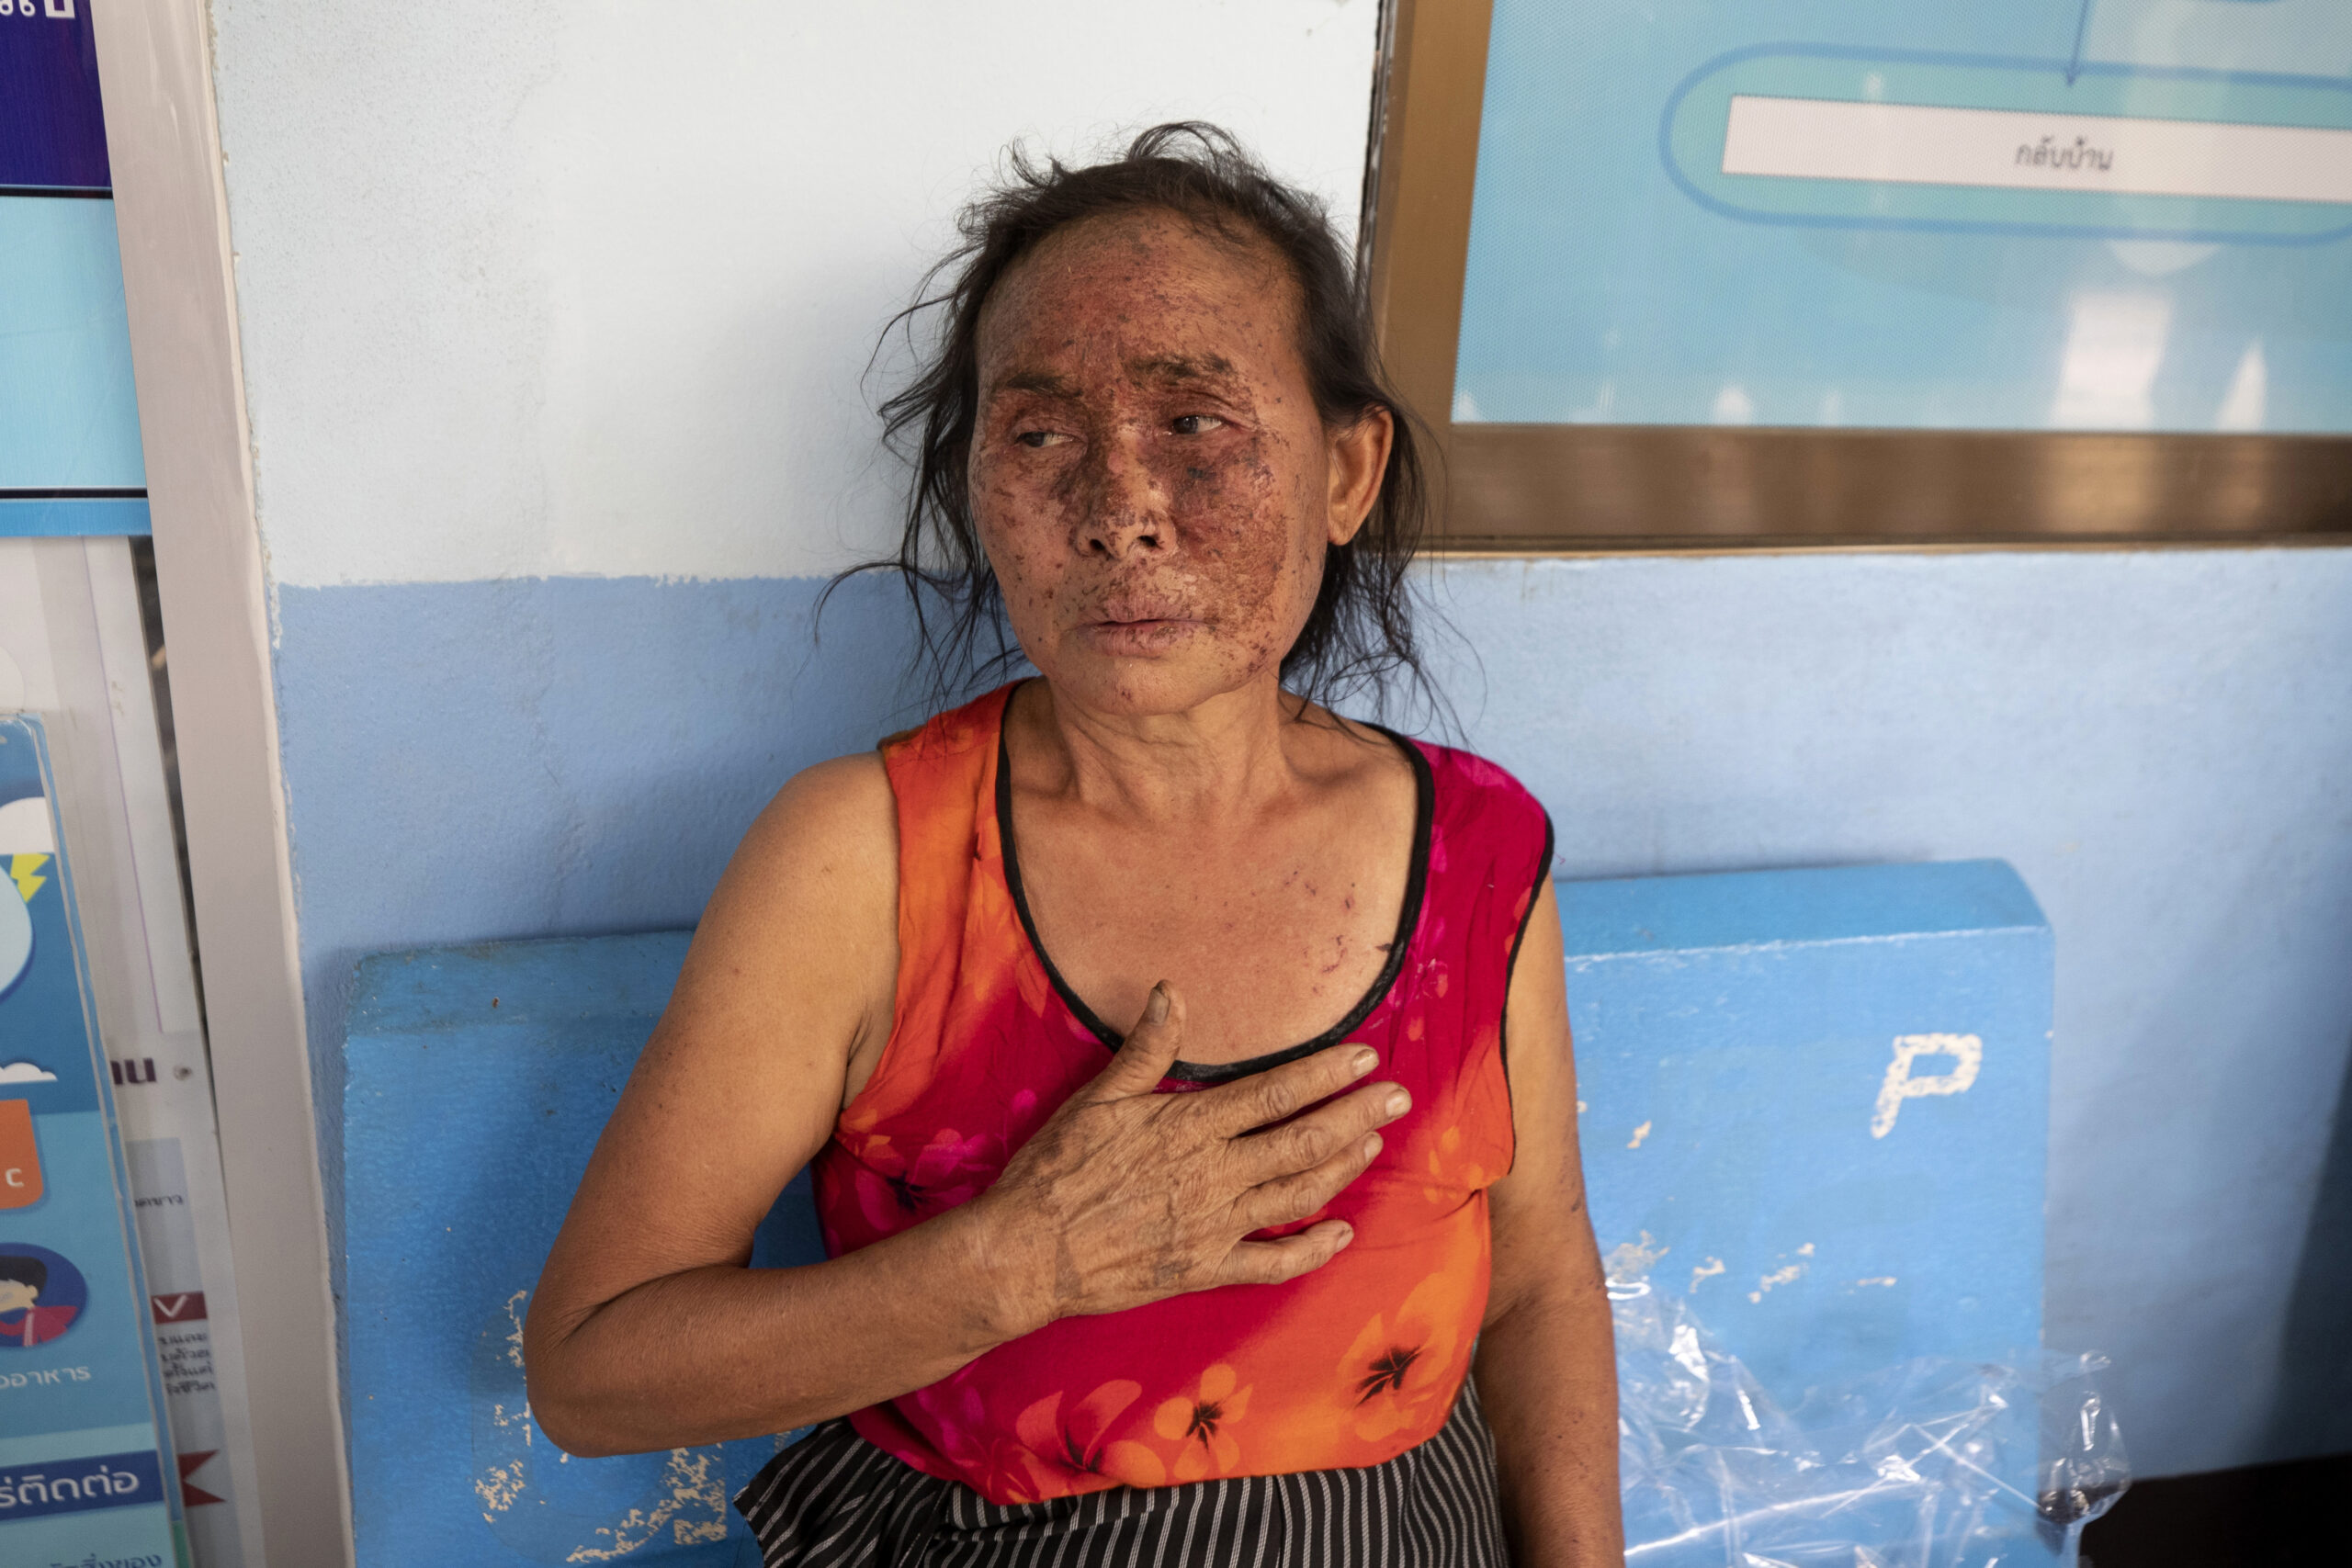
{"type": "Polygon", "coordinates": [[[889,1037],[896,856],[889,780],[847,757],[795,778],[727,867],[532,1298],[532,1410],[572,1453],[828,1420],[1056,1316],[1291,1279],[1348,1244],[1341,1222],[1242,1237],[1355,1180],[1402,1091],[1249,1135],[1355,1084],[1371,1053],[1157,1095],[1183,1041],[1162,990],[985,1194],[830,1262],[748,1269],[753,1229],[889,1037]]]}

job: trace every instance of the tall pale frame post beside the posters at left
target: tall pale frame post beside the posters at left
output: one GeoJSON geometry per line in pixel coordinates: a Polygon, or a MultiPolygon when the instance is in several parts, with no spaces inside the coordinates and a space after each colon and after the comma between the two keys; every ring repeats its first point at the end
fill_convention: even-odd
{"type": "Polygon", "coordinates": [[[205,0],[94,5],[263,1540],[350,1561],[270,599],[205,0]]]}

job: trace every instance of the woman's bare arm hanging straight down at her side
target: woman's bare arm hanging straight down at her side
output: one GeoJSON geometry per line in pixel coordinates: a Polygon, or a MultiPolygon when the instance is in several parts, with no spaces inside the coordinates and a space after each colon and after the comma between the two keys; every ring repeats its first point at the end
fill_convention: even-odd
{"type": "Polygon", "coordinates": [[[1494,1295],[1477,1387],[1494,1427],[1503,1526],[1519,1568],[1616,1568],[1616,1347],[1576,1157],[1576,1063],[1545,882],[1510,983],[1517,1159],[1494,1185],[1494,1295]]]}

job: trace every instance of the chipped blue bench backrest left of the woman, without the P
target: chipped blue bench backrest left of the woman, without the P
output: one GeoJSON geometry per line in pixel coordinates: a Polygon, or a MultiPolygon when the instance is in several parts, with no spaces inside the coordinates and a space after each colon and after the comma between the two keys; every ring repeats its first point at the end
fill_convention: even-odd
{"type": "MultiPolygon", "coordinates": [[[[729,1497],[774,1443],[567,1460],[522,1382],[529,1291],[684,950],[673,931],[362,964],[343,1211],[362,1568],[755,1561],[729,1497]]],[[[821,1255],[802,1178],[753,1262],[821,1255]]]]}

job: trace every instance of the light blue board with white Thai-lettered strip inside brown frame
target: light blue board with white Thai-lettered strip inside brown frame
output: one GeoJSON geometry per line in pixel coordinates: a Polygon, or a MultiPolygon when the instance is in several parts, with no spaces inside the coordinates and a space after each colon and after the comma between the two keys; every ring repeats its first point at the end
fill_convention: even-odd
{"type": "Polygon", "coordinates": [[[1456,421],[2352,433],[2345,0],[1494,0],[1456,421]]]}

